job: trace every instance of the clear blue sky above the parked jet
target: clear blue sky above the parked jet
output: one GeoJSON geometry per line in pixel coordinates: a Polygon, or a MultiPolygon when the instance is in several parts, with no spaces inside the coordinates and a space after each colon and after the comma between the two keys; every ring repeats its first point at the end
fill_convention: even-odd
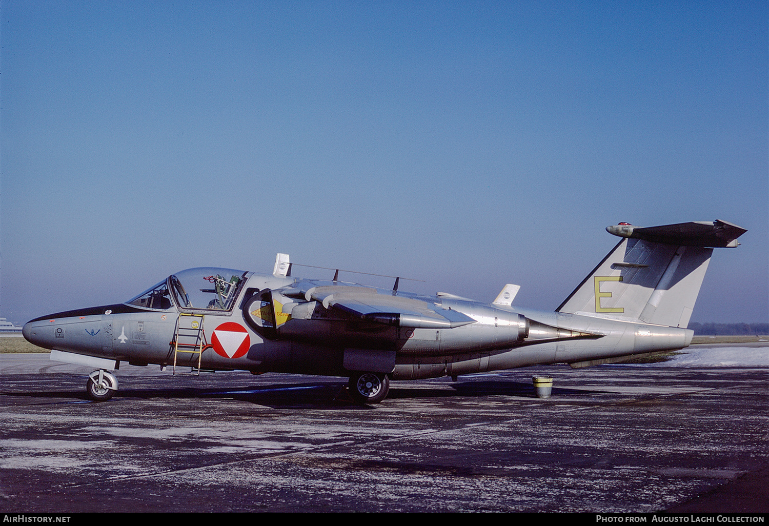
{"type": "Polygon", "coordinates": [[[769,318],[766,2],[4,0],[0,19],[17,324],[278,251],[431,294],[516,283],[552,310],[607,225],[716,218],[748,232],[692,321],[769,318]]]}

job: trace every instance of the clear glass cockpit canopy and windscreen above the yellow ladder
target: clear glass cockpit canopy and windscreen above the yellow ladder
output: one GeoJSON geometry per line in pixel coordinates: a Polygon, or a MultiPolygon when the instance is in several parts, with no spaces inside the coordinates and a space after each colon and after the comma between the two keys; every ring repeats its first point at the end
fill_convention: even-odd
{"type": "Polygon", "coordinates": [[[168,276],[126,303],[161,310],[175,304],[182,310],[231,311],[245,275],[245,271],[231,268],[189,268],[168,276]]]}

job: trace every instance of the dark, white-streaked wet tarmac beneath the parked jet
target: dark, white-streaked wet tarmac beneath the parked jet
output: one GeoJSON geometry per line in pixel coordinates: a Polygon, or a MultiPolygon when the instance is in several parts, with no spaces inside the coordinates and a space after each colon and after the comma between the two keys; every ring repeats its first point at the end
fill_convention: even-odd
{"type": "Polygon", "coordinates": [[[125,365],[95,403],[88,372],[0,355],[2,511],[769,511],[767,368],[524,368],[371,406],[346,378],[125,365]]]}

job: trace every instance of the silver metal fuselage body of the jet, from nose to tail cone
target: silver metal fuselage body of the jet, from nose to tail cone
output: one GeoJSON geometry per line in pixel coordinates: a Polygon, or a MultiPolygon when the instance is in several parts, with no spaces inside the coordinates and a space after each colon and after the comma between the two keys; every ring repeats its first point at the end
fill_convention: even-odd
{"type": "MultiPolygon", "coordinates": [[[[240,295],[245,296],[248,288],[275,290],[293,283],[291,278],[248,272],[240,295]]],[[[394,353],[394,370],[386,372],[391,372],[392,379],[402,380],[678,349],[689,345],[694,334],[681,328],[513,307],[503,309],[438,296],[395,294],[429,301],[438,308],[451,308],[468,315],[474,323],[455,328],[378,326],[345,313],[330,312],[317,301],[310,301],[307,303],[311,305],[304,307],[309,318],[289,315],[278,325],[278,338],[270,339],[251,327],[248,313],[242,308],[212,312],[183,308],[174,301],[163,310],[124,303],[59,312],[29,321],[24,326],[24,336],[35,345],[58,351],[131,365],[166,366],[174,363],[173,342],[179,314],[200,314],[205,316],[202,324],[208,334],[234,323],[247,333],[250,344],[244,355],[232,357],[221,355],[214,348],[206,349],[201,355],[204,369],[346,376],[350,369],[344,365],[345,350],[350,355],[351,349],[361,349],[359,355],[367,351],[377,355],[394,353]]],[[[239,300],[236,303],[242,303],[242,298],[239,300]]],[[[179,354],[176,364],[197,366],[198,357],[179,354]]]]}

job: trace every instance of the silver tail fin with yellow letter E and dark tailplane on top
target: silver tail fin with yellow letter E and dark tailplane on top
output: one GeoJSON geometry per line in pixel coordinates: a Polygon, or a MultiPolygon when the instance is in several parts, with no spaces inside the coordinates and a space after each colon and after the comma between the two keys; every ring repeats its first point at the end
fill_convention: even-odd
{"type": "Polygon", "coordinates": [[[606,230],[624,238],[556,309],[686,328],[714,247],[736,247],[747,230],[694,221],[606,230]]]}

